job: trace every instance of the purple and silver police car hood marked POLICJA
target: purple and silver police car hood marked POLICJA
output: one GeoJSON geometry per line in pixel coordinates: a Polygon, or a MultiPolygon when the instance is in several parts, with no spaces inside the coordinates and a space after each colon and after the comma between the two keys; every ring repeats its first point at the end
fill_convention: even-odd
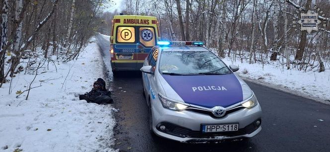
{"type": "MultiPolygon", "coordinates": [[[[229,107],[251,96],[248,85],[231,75],[170,76],[162,75],[185,103],[213,108],[229,107]]],[[[170,96],[167,96],[171,98],[170,96]]]]}

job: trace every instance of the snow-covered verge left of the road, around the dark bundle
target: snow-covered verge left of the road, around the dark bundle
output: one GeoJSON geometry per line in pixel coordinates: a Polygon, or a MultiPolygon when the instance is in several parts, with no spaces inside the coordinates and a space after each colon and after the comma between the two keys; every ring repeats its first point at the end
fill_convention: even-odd
{"type": "Polygon", "coordinates": [[[24,100],[27,92],[18,98],[16,92],[27,89],[35,76],[32,72],[21,72],[12,79],[11,94],[9,83],[0,88],[0,150],[114,151],[111,146],[115,109],[78,97],[79,93],[90,91],[96,78],[104,77],[98,49],[96,43],[90,43],[77,61],[55,62],[58,72],[52,63],[47,70],[46,62],[32,84],[42,86],[31,89],[28,100],[24,100]]]}

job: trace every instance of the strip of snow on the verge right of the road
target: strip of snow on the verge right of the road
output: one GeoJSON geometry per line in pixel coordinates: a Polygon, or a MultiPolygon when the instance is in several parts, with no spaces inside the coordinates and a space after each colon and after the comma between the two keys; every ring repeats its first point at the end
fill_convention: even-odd
{"type": "Polygon", "coordinates": [[[243,78],[330,104],[330,70],[304,73],[286,70],[285,65],[278,66],[277,62],[264,64],[262,68],[261,63],[248,64],[246,60],[243,63],[228,57],[222,60],[227,65],[239,66],[240,70],[236,73],[243,78]]]}

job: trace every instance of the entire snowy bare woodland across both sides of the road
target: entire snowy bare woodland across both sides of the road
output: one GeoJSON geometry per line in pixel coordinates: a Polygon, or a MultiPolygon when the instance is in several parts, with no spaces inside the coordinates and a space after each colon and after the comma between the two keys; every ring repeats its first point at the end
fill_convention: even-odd
{"type": "Polygon", "coordinates": [[[105,11],[113,3],[1,0],[0,87],[20,72],[77,59],[92,36],[110,35],[119,13],[156,16],[163,40],[203,41],[221,58],[330,69],[329,0],[123,0],[116,11],[105,11]],[[318,13],[317,31],[300,30],[308,10],[318,13]]]}

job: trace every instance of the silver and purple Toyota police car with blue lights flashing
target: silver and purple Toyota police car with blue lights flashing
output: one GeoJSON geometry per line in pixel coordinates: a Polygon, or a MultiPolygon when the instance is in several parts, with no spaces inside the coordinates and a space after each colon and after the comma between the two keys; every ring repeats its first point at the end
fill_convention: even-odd
{"type": "Polygon", "coordinates": [[[261,131],[261,107],[253,91],[203,47],[203,42],[165,42],[144,61],[143,91],[149,129],[179,142],[250,138],[261,131]]]}

